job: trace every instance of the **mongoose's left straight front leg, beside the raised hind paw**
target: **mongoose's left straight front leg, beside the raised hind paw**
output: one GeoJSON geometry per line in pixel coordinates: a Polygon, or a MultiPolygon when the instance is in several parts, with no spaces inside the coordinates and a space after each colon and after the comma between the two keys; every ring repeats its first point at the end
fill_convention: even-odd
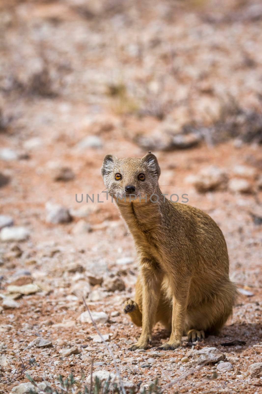
{"type": "Polygon", "coordinates": [[[152,341],[152,328],[158,307],[162,275],[148,259],[141,260],[142,279],[142,333],[130,350],[146,349],[148,342],[152,341]]]}

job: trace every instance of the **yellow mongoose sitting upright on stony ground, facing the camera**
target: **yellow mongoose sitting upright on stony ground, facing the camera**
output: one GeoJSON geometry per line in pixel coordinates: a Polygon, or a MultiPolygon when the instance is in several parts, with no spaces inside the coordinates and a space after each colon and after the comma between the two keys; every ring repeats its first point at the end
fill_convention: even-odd
{"type": "Polygon", "coordinates": [[[142,326],[131,349],[147,348],[156,322],[171,332],[163,349],[180,346],[183,333],[192,342],[217,333],[237,296],[220,228],[200,209],[172,203],[161,194],[160,168],[151,153],[141,159],[108,154],[101,173],[139,257],[135,301],[126,301],[124,309],[142,326]]]}

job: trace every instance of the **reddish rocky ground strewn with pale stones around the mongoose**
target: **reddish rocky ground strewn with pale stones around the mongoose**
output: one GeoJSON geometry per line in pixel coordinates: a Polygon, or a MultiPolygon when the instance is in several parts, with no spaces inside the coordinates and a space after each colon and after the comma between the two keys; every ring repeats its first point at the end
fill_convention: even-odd
{"type": "Polygon", "coordinates": [[[127,390],[158,377],[164,392],[261,392],[262,8],[196,3],[0,5],[3,394],[28,390],[29,362],[53,387],[70,372],[88,381],[92,360],[102,379],[115,374],[83,296],[127,390]],[[176,351],[157,350],[160,325],[151,348],[128,350],[141,331],[123,314],[134,244],[114,204],[97,201],[104,155],[148,149],[163,193],[186,193],[220,225],[240,291],[219,336],[176,351]],[[205,354],[213,362],[194,368],[205,354]]]}

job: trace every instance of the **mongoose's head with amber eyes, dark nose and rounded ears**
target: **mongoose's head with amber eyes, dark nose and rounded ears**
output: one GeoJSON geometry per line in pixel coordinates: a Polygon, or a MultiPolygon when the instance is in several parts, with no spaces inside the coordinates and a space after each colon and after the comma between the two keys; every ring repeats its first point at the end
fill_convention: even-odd
{"type": "MultiPolygon", "coordinates": [[[[146,154],[141,159],[128,157],[118,159],[112,154],[104,157],[101,168],[104,184],[108,193],[123,198],[132,195],[131,201],[150,197],[158,188],[160,167],[156,156],[146,154]]],[[[130,201],[126,199],[126,201],[130,201]]]]}

